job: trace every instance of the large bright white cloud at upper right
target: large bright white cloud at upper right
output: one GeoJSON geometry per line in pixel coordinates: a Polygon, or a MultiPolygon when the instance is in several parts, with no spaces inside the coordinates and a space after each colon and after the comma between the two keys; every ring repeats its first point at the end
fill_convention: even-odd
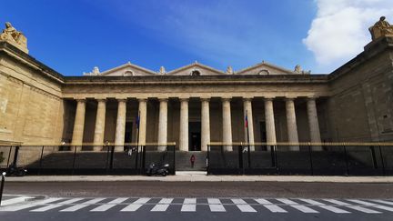
{"type": "MultiPolygon", "coordinates": [[[[368,27],[381,15],[393,20],[392,0],[316,0],[317,17],[303,39],[318,69],[332,69],[363,51],[371,40],[368,27]]],[[[331,70],[330,70],[331,71],[331,70]]]]}

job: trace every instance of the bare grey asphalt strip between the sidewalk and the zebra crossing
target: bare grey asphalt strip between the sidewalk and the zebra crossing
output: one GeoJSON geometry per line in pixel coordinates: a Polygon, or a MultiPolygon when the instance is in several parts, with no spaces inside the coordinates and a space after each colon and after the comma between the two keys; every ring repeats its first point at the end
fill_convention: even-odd
{"type": "Polygon", "coordinates": [[[45,196],[393,198],[392,184],[296,182],[5,183],[5,194],[45,196]]]}

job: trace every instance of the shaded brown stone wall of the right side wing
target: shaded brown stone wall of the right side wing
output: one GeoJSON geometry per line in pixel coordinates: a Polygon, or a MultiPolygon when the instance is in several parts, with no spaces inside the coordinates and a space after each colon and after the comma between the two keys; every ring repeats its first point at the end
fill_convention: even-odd
{"type": "Polygon", "coordinates": [[[329,130],[334,141],[393,140],[393,38],[382,38],[331,77],[329,130]]]}

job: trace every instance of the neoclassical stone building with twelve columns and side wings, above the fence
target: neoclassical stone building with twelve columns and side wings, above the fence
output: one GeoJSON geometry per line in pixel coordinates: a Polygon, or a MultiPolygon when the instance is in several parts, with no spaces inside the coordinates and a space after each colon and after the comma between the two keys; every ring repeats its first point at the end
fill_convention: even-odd
{"type": "Polygon", "coordinates": [[[120,151],[125,143],[176,142],[180,151],[206,151],[210,142],[393,141],[393,27],[381,18],[370,33],[364,51],[330,74],[267,62],[227,71],[197,62],[153,71],[128,62],[65,76],[28,55],[25,35],[7,23],[0,144],[65,142],[98,151],[109,142],[120,151]]]}

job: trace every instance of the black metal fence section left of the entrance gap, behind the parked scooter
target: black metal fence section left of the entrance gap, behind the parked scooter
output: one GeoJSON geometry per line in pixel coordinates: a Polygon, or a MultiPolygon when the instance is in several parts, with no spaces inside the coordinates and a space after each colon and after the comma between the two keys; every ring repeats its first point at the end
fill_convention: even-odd
{"type": "Polygon", "coordinates": [[[0,146],[0,171],[19,167],[27,175],[143,175],[156,163],[169,164],[169,174],[175,175],[175,153],[175,145],[0,146]]]}

